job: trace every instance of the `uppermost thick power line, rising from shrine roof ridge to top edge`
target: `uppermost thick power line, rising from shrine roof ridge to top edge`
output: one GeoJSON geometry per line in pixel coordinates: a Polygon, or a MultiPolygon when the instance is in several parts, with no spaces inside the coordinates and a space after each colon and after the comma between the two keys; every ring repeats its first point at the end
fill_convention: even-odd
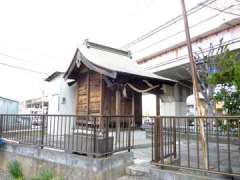
{"type": "MultiPolygon", "coordinates": [[[[187,15],[188,15],[188,16],[189,16],[189,15],[192,15],[192,14],[198,12],[199,10],[205,8],[206,5],[212,4],[212,3],[215,2],[215,1],[216,1],[216,0],[206,0],[206,1],[204,1],[204,2],[201,2],[201,3],[199,3],[197,6],[191,8],[191,9],[187,12],[187,15]]],[[[147,39],[148,37],[156,34],[157,32],[159,32],[159,31],[161,31],[161,30],[163,30],[163,29],[166,29],[166,28],[172,26],[173,24],[175,24],[175,23],[177,23],[178,21],[182,20],[182,18],[183,18],[182,15],[178,15],[177,17],[175,17],[175,18],[173,18],[173,19],[165,22],[164,24],[161,24],[161,25],[158,26],[157,28],[155,28],[155,29],[149,31],[148,33],[140,36],[139,38],[131,41],[130,43],[127,43],[127,44],[124,45],[122,48],[127,48],[127,47],[129,47],[129,46],[131,46],[131,45],[137,44],[137,43],[139,43],[139,42],[147,39]]]]}

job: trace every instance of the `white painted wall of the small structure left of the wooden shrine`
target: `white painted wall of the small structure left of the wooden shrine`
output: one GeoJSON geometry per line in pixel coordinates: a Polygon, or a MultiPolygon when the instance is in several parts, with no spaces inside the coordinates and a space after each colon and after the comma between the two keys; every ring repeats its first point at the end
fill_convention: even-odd
{"type": "MultiPolygon", "coordinates": [[[[62,77],[58,77],[49,82],[47,93],[49,103],[48,114],[76,115],[76,85],[68,86],[62,77]]],[[[71,134],[74,122],[75,117],[73,116],[49,118],[48,134],[71,134]]]]}

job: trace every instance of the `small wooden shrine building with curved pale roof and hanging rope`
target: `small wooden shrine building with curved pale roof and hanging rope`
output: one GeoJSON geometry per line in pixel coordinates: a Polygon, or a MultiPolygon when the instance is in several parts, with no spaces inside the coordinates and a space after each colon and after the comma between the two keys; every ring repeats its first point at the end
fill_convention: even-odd
{"type": "Polygon", "coordinates": [[[76,98],[75,114],[133,115],[138,126],[142,124],[142,93],[155,94],[160,109],[163,86],[175,84],[142,69],[131,59],[130,52],[88,40],[77,48],[63,77],[72,81],[69,86],[76,88],[76,96],[72,96],[76,98]]]}

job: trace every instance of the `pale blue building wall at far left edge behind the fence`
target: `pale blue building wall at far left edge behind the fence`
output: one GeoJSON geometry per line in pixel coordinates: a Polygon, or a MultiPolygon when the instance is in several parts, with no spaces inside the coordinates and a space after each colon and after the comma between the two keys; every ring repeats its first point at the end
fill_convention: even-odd
{"type": "Polygon", "coordinates": [[[0,97],[0,114],[18,114],[19,103],[0,97]]]}

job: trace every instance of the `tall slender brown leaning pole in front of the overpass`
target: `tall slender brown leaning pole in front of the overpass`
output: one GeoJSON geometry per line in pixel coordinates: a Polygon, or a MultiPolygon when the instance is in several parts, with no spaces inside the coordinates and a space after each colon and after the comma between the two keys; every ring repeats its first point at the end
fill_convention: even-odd
{"type": "MultiPolygon", "coordinates": [[[[184,20],[185,34],[186,34],[186,40],[187,40],[188,57],[189,57],[191,72],[192,72],[193,94],[195,97],[195,108],[197,111],[197,115],[202,116],[200,100],[199,100],[199,87],[198,87],[196,64],[194,62],[194,57],[193,57],[193,52],[192,52],[191,37],[190,37],[190,32],[189,32],[188,19],[187,19],[187,13],[186,13],[186,7],[185,7],[184,0],[181,0],[181,5],[182,5],[182,15],[183,15],[183,20],[184,20]]],[[[207,144],[206,144],[206,138],[205,138],[205,132],[204,132],[204,120],[201,118],[199,118],[198,120],[199,120],[199,125],[200,125],[200,140],[201,140],[202,151],[203,151],[203,162],[204,162],[205,168],[208,169],[207,144]]]]}

